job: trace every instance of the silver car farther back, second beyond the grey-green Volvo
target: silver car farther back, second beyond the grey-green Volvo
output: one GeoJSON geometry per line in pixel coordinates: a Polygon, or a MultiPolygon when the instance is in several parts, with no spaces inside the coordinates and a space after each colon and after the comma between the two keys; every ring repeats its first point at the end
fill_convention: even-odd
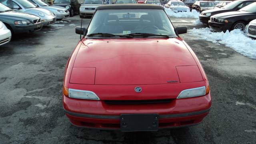
{"type": "Polygon", "coordinates": [[[35,6],[39,6],[40,8],[45,8],[46,10],[50,10],[53,12],[57,18],[57,20],[62,20],[63,18],[69,17],[69,11],[66,8],[61,6],[50,6],[46,2],[42,0],[28,0],[33,3],[35,6]]]}

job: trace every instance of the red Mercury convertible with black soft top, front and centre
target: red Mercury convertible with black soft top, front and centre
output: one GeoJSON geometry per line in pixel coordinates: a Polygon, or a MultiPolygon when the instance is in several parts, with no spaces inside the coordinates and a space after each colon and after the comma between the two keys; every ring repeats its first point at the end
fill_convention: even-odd
{"type": "Polygon", "coordinates": [[[75,126],[129,131],[191,126],[211,108],[198,58],[163,6],[99,6],[65,70],[63,107],[75,126]]]}

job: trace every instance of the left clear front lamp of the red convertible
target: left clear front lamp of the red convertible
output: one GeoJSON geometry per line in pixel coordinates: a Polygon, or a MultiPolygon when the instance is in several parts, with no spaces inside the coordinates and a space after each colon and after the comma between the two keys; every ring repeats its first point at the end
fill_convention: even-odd
{"type": "Polygon", "coordinates": [[[74,90],[69,88],[68,89],[68,96],[70,98],[79,98],[79,99],[87,99],[87,100],[100,100],[100,98],[91,91],[87,90],[74,90]]]}

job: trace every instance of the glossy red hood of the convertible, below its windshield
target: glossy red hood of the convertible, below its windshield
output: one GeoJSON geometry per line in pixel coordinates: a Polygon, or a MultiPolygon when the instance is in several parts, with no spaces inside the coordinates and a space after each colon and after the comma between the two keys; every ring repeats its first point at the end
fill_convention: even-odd
{"type": "MultiPolygon", "coordinates": [[[[198,70],[193,56],[179,38],[94,39],[84,40],[72,74],[80,73],[77,68],[85,68],[84,74],[88,72],[95,77],[91,82],[104,85],[170,84],[167,81],[180,82],[176,66],[196,66],[198,70]]],[[[72,74],[71,83],[81,81],[81,78],[75,80],[72,74]]],[[[201,76],[200,72],[198,75],[201,76]]]]}

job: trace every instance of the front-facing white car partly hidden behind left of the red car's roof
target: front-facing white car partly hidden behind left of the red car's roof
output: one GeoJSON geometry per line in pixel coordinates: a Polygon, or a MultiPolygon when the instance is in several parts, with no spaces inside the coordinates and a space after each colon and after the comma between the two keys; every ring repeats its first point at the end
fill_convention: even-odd
{"type": "Polygon", "coordinates": [[[92,16],[95,9],[102,4],[102,0],[84,0],[79,9],[80,18],[82,18],[82,16],[92,16]]]}

